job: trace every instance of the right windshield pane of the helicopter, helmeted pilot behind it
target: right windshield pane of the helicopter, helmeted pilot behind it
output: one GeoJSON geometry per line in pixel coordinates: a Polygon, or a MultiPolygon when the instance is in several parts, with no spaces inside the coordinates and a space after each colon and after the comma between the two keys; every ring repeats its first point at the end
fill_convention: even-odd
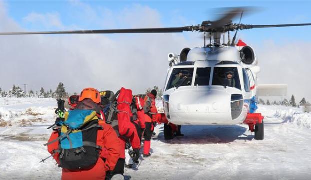
{"type": "Polygon", "coordinates": [[[242,90],[236,67],[214,67],[212,85],[222,85],[242,90]]]}

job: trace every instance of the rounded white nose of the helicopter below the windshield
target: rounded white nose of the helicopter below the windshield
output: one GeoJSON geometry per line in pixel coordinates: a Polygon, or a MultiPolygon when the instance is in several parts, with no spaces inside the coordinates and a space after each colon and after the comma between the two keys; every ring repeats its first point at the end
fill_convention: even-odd
{"type": "Polygon", "coordinates": [[[231,106],[231,93],[224,90],[182,90],[170,94],[167,109],[175,124],[234,124],[231,106]]]}

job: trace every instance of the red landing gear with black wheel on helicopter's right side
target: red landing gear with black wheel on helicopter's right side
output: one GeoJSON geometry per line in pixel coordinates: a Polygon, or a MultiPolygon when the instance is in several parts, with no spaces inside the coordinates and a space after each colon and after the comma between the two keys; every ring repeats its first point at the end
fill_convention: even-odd
{"type": "Polygon", "coordinates": [[[244,124],[249,126],[251,132],[255,132],[256,140],[263,140],[264,138],[264,123],[261,113],[248,113],[244,124]]]}

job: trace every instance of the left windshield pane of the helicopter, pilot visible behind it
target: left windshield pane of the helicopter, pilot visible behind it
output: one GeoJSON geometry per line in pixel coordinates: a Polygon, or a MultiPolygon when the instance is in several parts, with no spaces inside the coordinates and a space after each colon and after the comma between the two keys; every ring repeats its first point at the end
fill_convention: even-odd
{"type": "Polygon", "coordinates": [[[175,68],[173,69],[166,90],[173,87],[189,86],[192,83],[193,68],[175,68]]]}

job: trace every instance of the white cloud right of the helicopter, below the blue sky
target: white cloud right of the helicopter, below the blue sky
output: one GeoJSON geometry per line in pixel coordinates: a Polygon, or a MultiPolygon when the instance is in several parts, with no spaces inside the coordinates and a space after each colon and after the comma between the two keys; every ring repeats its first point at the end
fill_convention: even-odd
{"type": "Polygon", "coordinates": [[[296,101],[305,97],[311,101],[311,83],[309,83],[311,51],[309,42],[291,42],[276,45],[274,41],[265,41],[264,46],[256,49],[259,57],[259,83],[288,84],[288,98],[294,94],[296,101]]]}

